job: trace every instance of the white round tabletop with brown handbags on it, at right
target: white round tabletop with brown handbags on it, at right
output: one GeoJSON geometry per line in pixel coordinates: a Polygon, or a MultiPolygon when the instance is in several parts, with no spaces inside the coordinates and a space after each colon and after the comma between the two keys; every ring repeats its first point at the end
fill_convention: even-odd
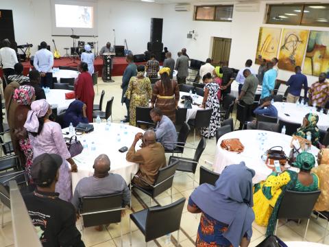
{"type": "MultiPolygon", "coordinates": [[[[217,148],[215,153],[214,172],[221,174],[223,169],[227,165],[238,164],[241,161],[245,161],[247,167],[254,169],[256,172],[253,183],[259,183],[263,181],[271,174],[272,170],[265,165],[261,156],[266,150],[273,146],[281,146],[288,156],[290,153],[291,136],[286,134],[280,134],[277,132],[269,132],[264,130],[239,130],[233,131],[228,134],[224,134],[217,142],[217,148]],[[263,152],[261,151],[261,143],[258,139],[259,134],[264,133],[267,139],[263,143],[263,152]],[[245,150],[241,154],[236,152],[229,152],[221,148],[221,141],[223,139],[239,138],[241,143],[245,146],[245,150]]],[[[317,156],[319,150],[312,146],[310,152],[317,156]]],[[[317,160],[317,158],[315,158],[317,160]]],[[[291,167],[291,169],[295,169],[291,167]]]]}

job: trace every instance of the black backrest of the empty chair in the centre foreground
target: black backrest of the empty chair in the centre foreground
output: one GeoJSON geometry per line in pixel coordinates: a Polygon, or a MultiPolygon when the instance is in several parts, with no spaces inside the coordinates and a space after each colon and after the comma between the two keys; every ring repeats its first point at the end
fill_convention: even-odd
{"type": "Polygon", "coordinates": [[[145,242],[180,230],[180,220],[184,209],[185,198],[162,207],[148,209],[145,224],[145,242]],[[161,227],[154,227],[159,226],[161,227]]]}

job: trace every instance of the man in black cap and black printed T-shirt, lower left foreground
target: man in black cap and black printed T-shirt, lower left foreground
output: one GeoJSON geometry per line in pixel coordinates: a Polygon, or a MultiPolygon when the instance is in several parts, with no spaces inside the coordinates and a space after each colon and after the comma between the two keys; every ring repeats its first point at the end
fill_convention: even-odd
{"type": "Polygon", "coordinates": [[[23,199],[42,246],[84,246],[75,226],[73,205],[55,193],[60,165],[62,158],[58,154],[45,153],[34,158],[31,175],[36,190],[23,199]]]}

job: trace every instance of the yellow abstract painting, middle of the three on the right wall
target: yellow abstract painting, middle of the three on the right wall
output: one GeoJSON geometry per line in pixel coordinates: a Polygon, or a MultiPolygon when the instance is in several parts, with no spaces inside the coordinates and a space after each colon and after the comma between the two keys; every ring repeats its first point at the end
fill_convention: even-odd
{"type": "Polygon", "coordinates": [[[308,34],[308,30],[284,28],[278,62],[280,69],[295,71],[296,66],[302,66],[308,34]]]}

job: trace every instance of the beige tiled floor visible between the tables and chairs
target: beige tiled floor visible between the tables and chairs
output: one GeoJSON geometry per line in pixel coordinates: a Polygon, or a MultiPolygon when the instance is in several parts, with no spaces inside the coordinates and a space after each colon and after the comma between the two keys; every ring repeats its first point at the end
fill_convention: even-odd
{"type": "MultiPolygon", "coordinates": [[[[119,122],[123,119],[123,115],[126,114],[125,106],[121,105],[121,89],[120,82],[121,77],[114,78],[115,82],[104,83],[99,79],[99,93],[97,94],[97,87],[95,87],[95,103],[99,102],[99,96],[101,95],[101,90],[106,91],[106,95],[103,101],[103,108],[106,106],[106,101],[110,97],[114,96],[113,104],[113,121],[119,122]]],[[[199,137],[198,137],[199,138],[199,137]]],[[[193,146],[193,134],[191,133],[188,137],[188,145],[193,146]]],[[[184,156],[193,157],[194,151],[188,150],[184,151],[184,156]]],[[[215,139],[210,139],[207,141],[206,150],[202,154],[199,165],[205,165],[209,168],[205,161],[213,161],[215,155],[215,139]]],[[[199,167],[197,167],[197,172],[195,174],[195,186],[199,181],[199,167]]],[[[191,195],[193,191],[193,175],[178,172],[173,181],[173,200],[178,200],[179,198],[186,198],[191,195]]],[[[143,200],[147,206],[150,206],[149,198],[143,193],[138,193],[138,196],[143,200]]],[[[169,204],[171,202],[169,192],[162,193],[158,198],[158,202],[162,205],[169,204]]],[[[153,205],[155,202],[153,202],[153,205]]],[[[143,204],[139,202],[135,197],[132,198],[132,210],[139,211],[143,209],[143,204]]],[[[121,220],[121,226],[123,231],[123,246],[129,246],[129,214],[130,210],[126,210],[125,216],[121,220]]],[[[13,243],[13,233],[12,233],[12,222],[10,210],[5,208],[4,213],[5,225],[0,228],[0,247],[14,246],[13,243]]],[[[160,226],[161,222],[159,222],[160,226]]],[[[197,235],[197,227],[199,225],[199,215],[188,213],[186,210],[186,205],[182,214],[181,231],[180,231],[180,245],[181,246],[195,246],[195,238],[197,235]]],[[[302,221],[301,224],[296,224],[295,222],[285,222],[280,221],[277,235],[284,241],[302,241],[302,236],[304,235],[304,228],[306,226],[306,221],[302,221]]],[[[308,234],[306,239],[308,242],[322,242],[324,227],[326,226],[325,220],[310,220],[310,225],[308,226],[308,234]]],[[[77,227],[81,229],[81,222],[77,222],[77,227]]],[[[158,227],[158,226],[156,226],[158,227]]],[[[252,242],[249,246],[256,246],[265,237],[266,228],[253,224],[253,236],[252,242]]],[[[326,244],[329,244],[329,231],[326,232],[326,244]]],[[[168,242],[169,238],[167,236],[160,237],[156,241],[149,242],[148,246],[174,246],[177,241],[177,233],[171,235],[171,241],[168,242]]],[[[83,240],[86,246],[95,247],[105,247],[105,246],[121,246],[120,237],[120,227],[119,224],[111,224],[108,228],[102,232],[97,232],[93,227],[85,228],[83,233],[83,240]]],[[[132,223],[132,246],[145,246],[145,239],[143,234],[138,231],[137,227],[132,223]]]]}

